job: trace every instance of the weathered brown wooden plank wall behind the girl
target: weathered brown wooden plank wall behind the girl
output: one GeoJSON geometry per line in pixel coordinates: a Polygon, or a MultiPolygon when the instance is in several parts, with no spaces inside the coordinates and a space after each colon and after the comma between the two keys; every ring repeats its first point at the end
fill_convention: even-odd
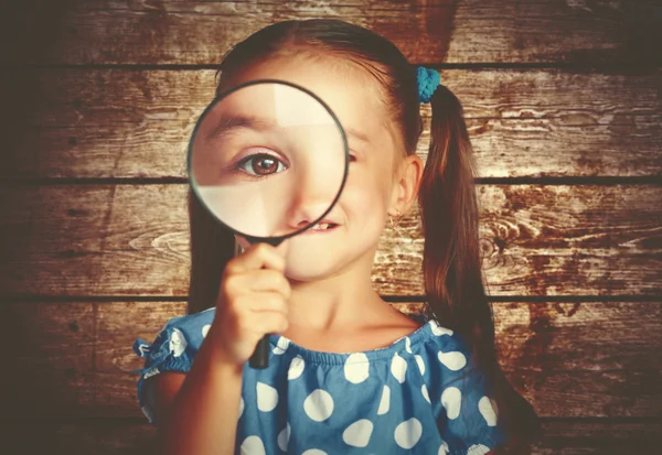
{"type": "MultiPolygon", "coordinates": [[[[0,8],[3,453],[146,453],[131,343],[185,311],[184,148],[215,64],[268,23],[321,17],[389,37],[465,104],[501,362],[547,432],[534,453],[662,445],[658,1],[0,8]]],[[[412,216],[375,263],[405,312],[420,251],[412,216]]]]}

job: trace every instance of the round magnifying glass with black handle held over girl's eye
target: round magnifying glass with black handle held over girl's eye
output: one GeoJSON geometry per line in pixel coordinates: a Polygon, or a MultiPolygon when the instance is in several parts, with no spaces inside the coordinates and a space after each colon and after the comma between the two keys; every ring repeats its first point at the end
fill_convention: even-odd
{"type": "MultiPolygon", "coordinates": [[[[189,142],[193,193],[214,218],[250,245],[278,246],[321,221],[349,169],[344,130],[312,91],[259,79],[218,95],[189,142]]],[[[266,368],[269,336],[250,357],[266,368]]]]}

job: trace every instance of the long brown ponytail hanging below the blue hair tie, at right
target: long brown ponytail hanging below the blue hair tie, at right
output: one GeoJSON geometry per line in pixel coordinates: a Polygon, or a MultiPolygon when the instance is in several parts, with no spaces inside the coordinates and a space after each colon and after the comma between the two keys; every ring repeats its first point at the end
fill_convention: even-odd
{"type": "Polygon", "coordinates": [[[499,425],[508,436],[500,453],[527,453],[528,444],[542,436],[542,427],[496,358],[494,323],[482,278],[477,166],[462,106],[444,85],[435,90],[430,104],[430,147],[418,197],[429,310],[467,342],[473,361],[488,378],[487,392],[496,401],[499,425]]]}

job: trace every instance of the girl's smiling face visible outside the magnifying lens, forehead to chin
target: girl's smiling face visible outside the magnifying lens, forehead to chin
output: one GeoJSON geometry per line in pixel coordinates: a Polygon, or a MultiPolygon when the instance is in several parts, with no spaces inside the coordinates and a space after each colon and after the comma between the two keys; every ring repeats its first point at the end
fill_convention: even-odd
{"type": "MultiPolygon", "coordinates": [[[[234,85],[273,78],[298,84],[327,102],[348,137],[348,180],[324,217],[335,227],[309,229],[287,240],[286,275],[296,281],[329,278],[354,267],[370,272],[387,210],[394,206],[399,187],[394,171],[403,158],[396,153],[377,83],[346,64],[325,62],[300,56],[271,58],[242,72],[232,82],[234,85]]],[[[305,198],[301,204],[306,204],[305,198]]],[[[305,213],[301,207],[301,214],[305,213]]],[[[297,221],[312,220],[293,220],[297,221]]],[[[239,242],[247,247],[243,239],[239,242]]]]}

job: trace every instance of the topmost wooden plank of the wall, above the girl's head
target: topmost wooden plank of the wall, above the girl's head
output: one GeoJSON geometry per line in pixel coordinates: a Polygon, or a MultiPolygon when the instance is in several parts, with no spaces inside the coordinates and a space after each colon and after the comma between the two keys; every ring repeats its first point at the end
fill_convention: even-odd
{"type": "Polygon", "coordinates": [[[254,31],[314,18],[372,29],[415,63],[660,62],[654,0],[10,3],[0,55],[11,64],[216,64],[254,31]]]}

